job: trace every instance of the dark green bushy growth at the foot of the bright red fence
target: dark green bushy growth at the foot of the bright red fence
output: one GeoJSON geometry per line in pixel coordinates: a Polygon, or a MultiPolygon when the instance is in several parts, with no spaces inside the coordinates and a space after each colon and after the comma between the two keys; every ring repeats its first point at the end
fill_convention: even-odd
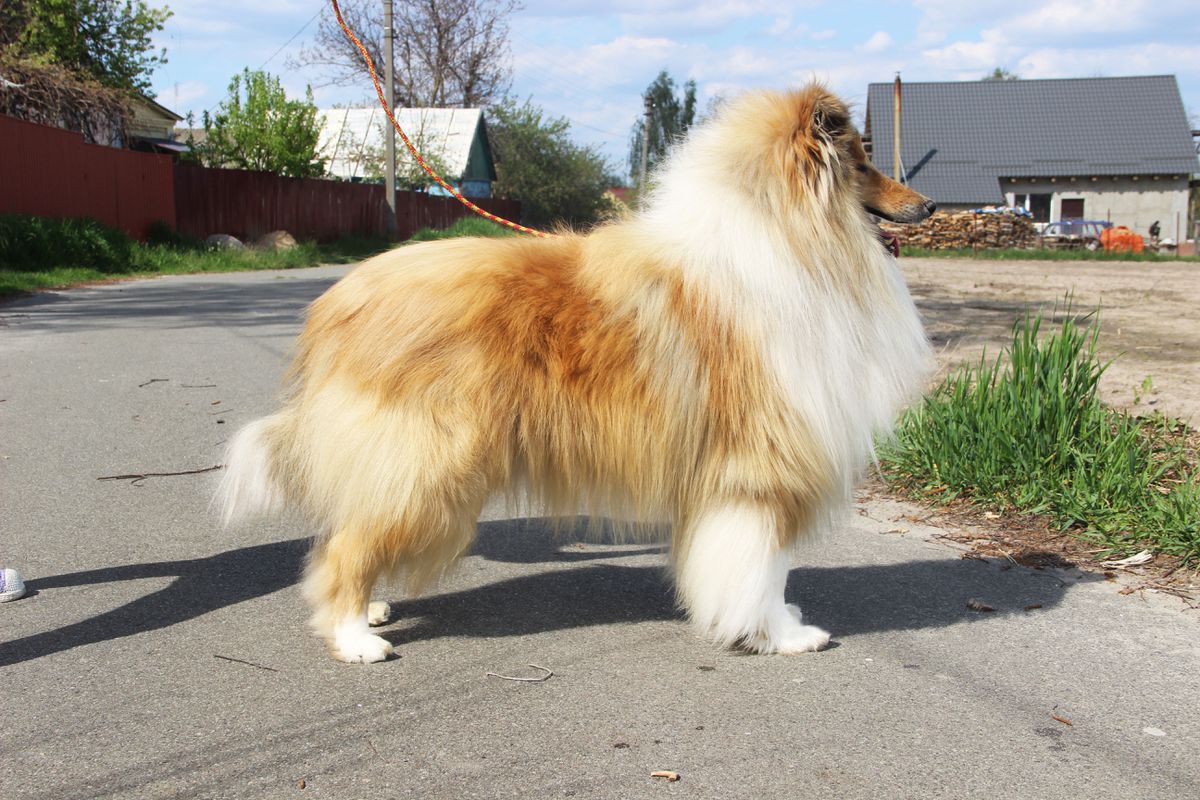
{"type": "Polygon", "coordinates": [[[30,272],[88,266],[101,272],[137,269],[138,243],[95,219],[0,215],[0,269],[30,272]]]}

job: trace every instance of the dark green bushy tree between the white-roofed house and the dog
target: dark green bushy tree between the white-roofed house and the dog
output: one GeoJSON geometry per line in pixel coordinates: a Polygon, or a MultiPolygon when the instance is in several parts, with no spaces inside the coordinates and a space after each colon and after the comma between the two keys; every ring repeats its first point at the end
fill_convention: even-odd
{"type": "Polygon", "coordinates": [[[488,110],[487,124],[496,157],[493,190],[521,200],[526,224],[590,224],[608,209],[608,164],[592,148],[571,142],[568,120],[547,118],[528,100],[517,104],[509,98],[488,110]]]}

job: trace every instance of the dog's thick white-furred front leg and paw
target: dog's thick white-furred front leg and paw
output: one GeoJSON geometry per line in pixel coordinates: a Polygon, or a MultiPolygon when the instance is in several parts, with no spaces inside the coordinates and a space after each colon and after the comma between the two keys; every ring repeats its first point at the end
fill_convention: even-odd
{"type": "Polygon", "coordinates": [[[800,622],[784,602],[788,549],[781,516],[755,503],[703,513],[683,536],[676,583],[680,604],[704,634],[757,652],[809,652],[829,634],[800,622]]]}

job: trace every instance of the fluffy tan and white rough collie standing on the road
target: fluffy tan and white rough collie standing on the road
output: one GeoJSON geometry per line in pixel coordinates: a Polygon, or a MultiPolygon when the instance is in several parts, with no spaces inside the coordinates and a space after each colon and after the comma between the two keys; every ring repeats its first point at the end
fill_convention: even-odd
{"type": "Polygon", "coordinates": [[[870,215],[932,207],[812,85],[727,103],[628,219],[378,255],[312,305],[286,405],[232,441],[226,519],[292,504],[319,525],[304,590],[342,661],[389,655],[376,581],[427,587],[498,491],[668,523],[700,631],[820,650],[784,601],[790,546],[845,504],[929,360],[870,215]]]}

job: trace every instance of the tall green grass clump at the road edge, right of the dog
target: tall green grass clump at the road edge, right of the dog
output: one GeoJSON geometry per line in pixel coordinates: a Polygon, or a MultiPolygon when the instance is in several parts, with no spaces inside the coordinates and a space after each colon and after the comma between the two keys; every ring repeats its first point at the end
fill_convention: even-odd
{"type": "Polygon", "coordinates": [[[1104,555],[1148,548],[1200,561],[1188,429],[1103,405],[1099,326],[1069,307],[1045,337],[1042,321],[1026,314],[995,360],[958,369],[910,409],[881,447],[884,477],[919,499],[1045,515],[1104,555]]]}

